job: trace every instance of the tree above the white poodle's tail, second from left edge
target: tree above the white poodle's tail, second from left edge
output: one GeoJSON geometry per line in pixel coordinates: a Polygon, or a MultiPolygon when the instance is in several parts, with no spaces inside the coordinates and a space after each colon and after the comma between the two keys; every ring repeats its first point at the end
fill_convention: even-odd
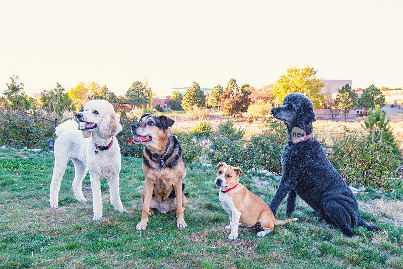
{"type": "Polygon", "coordinates": [[[43,90],[39,100],[45,111],[54,112],[61,116],[63,111],[72,109],[72,100],[64,92],[65,88],[56,82],[56,87],[52,90],[43,90]]]}

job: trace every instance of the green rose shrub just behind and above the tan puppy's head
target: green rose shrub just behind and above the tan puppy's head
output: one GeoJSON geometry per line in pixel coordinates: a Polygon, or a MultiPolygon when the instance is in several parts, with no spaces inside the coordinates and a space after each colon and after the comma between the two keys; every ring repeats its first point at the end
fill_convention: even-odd
{"type": "Polygon", "coordinates": [[[220,133],[213,133],[210,136],[210,143],[208,158],[213,165],[226,162],[244,168],[248,154],[243,142],[233,141],[220,133]]]}

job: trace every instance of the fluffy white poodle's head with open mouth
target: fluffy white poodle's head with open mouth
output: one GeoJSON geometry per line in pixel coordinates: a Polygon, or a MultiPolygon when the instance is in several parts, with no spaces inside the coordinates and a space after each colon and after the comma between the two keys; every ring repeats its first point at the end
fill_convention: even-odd
{"type": "Polygon", "coordinates": [[[84,111],[77,113],[76,117],[85,138],[91,137],[91,132],[96,131],[103,138],[111,138],[122,130],[113,106],[105,100],[88,101],[84,111]]]}

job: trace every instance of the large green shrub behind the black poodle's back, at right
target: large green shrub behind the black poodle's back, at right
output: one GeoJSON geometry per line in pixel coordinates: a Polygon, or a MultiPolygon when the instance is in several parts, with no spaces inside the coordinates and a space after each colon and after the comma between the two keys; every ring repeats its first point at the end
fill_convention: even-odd
{"type": "Polygon", "coordinates": [[[331,149],[329,161],[348,184],[356,186],[387,187],[388,177],[399,163],[389,143],[359,139],[357,131],[347,127],[331,149]]]}

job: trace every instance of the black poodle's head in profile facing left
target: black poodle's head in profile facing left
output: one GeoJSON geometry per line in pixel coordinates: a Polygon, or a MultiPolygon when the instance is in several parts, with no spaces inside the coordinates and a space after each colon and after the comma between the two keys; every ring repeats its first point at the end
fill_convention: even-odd
{"type": "Polygon", "coordinates": [[[283,100],[283,106],[272,109],[275,118],[284,121],[288,127],[297,126],[311,132],[311,123],[316,120],[313,104],[301,93],[290,93],[283,100]]]}

